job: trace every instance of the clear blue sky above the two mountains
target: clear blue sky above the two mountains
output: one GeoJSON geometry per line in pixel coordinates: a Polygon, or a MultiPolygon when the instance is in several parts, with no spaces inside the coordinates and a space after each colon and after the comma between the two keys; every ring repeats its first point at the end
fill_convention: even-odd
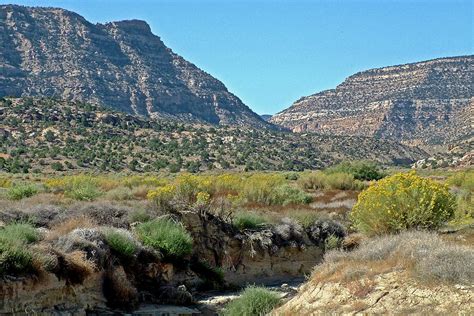
{"type": "Polygon", "coordinates": [[[473,54],[474,0],[0,0],[12,2],[146,20],[259,114],[357,71],[473,54]]]}

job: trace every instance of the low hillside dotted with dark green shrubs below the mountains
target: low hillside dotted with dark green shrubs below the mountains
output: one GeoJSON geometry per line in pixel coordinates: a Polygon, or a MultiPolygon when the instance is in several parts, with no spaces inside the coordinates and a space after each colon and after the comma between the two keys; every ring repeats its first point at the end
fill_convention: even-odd
{"type": "Polygon", "coordinates": [[[0,139],[0,170],[8,172],[303,170],[346,159],[408,164],[427,156],[368,137],[188,125],[50,98],[1,99],[0,139]]]}

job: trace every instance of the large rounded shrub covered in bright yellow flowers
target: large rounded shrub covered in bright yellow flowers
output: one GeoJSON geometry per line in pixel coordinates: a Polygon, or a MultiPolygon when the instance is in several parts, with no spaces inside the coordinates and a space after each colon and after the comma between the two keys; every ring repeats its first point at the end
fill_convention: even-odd
{"type": "Polygon", "coordinates": [[[455,198],[448,188],[413,172],[380,180],[359,195],[351,213],[354,226],[368,235],[435,229],[452,218],[455,198]]]}

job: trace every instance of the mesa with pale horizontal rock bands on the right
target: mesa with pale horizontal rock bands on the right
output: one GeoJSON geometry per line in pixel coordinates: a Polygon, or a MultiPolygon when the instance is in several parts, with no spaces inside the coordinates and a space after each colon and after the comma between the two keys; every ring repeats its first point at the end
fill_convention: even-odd
{"type": "Polygon", "coordinates": [[[472,135],[473,83],[474,56],[371,69],[299,99],[270,121],[295,132],[450,144],[472,135]]]}

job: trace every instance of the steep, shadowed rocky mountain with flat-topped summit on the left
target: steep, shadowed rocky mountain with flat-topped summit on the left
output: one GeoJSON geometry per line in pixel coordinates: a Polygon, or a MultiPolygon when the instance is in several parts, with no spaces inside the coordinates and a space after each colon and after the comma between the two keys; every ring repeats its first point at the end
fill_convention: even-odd
{"type": "Polygon", "coordinates": [[[0,6],[0,96],[54,96],[153,118],[270,126],[139,20],[92,24],[58,8],[0,6]]]}

